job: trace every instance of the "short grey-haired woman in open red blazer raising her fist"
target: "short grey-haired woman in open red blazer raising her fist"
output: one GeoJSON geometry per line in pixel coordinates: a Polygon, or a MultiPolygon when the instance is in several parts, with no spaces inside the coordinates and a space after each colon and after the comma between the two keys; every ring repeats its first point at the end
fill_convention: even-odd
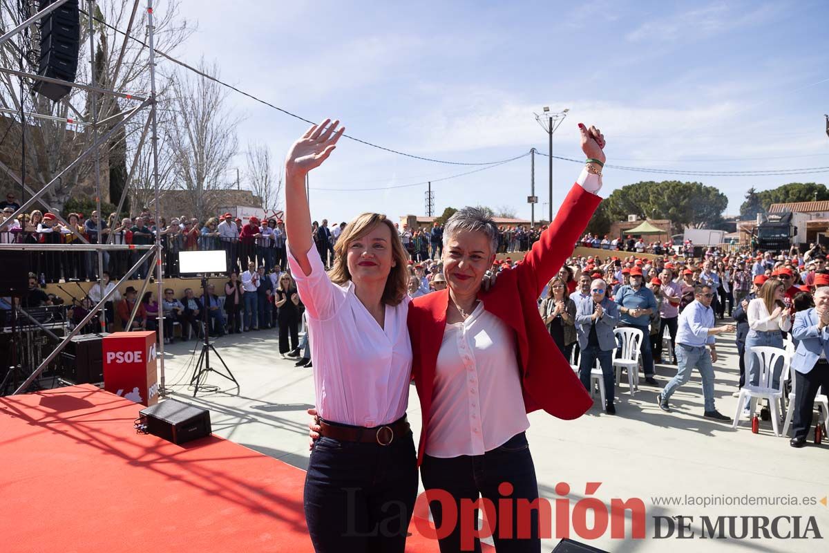
{"type": "MultiPolygon", "coordinates": [[[[463,499],[492,502],[493,539],[500,551],[541,551],[538,511],[525,539],[500,536],[498,499],[532,501],[538,497],[535,468],[525,430],[526,413],[543,409],[570,420],[592,405],[539,317],[537,298],[573,250],[599,206],[604,137],[579,124],[588,162],[540,240],[514,269],[498,275],[488,292],[481,289],[497,250],[497,227],[482,211],[463,208],[444,227],[444,276],[448,289],[415,298],[409,309],[414,360],[412,375],[423,416],[418,461],[424,488],[453,497],[456,513],[463,499]],[[502,483],[509,483],[504,487],[502,483]]],[[[516,519],[513,529],[526,521],[516,519]]],[[[435,526],[443,504],[431,502],[435,526]]],[[[449,517],[451,518],[451,517],[449,517]]],[[[440,549],[460,551],[458,519],[440,549]]],[[[473,536],[471,529],[463,532],[473,536]]],[[[468,546],[468,544],[463,544],[468,546]]],[[[480,544],[476,540],[476,551],[480,544]]]]}

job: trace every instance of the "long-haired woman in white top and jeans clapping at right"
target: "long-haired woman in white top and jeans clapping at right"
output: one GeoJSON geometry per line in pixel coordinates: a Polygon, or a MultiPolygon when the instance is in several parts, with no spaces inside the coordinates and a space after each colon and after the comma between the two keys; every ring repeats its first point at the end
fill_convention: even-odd
{"type": "MultiPolygon", "coordinates": [[[[751,352],[755,346],[779,347],[783,349],[783,332],[792,328],[791,312],[783,303],[786,288],[778,279],[768,279],[759,289],[757,298],[749,302],[746,315],[749,319],[749,334],[745,337],[746,382],[757,386],[760,380],[759,359],[751,352]]],[[[775,367],[773,386],[778,385],[780,375],[775,367]]],[[[743,415],[749,415],[749,401],[744,405],[743,415]]]]}

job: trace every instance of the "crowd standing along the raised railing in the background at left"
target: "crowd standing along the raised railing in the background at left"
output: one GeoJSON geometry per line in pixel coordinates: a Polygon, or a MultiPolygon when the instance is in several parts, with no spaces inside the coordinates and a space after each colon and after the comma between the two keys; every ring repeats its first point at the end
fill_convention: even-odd
{"type": "MultiPolygon", "coordinates": [[[[19,204],[10,192],[7,200],[0,202],[0,222],[12,216],[17,209],[19,204]]],[[[172,217],[170,221],[161,217],[157,224],[148,209],[143,208],[138,215],[123,218],[116,213],[101,218],[98,211],[92,211],[89,217],[73,212],[65,216],[65,221],[66,225],[58,221],[54,213],[33,210],[27,215],[17,216],[15,221],[0,230],[0,244],[70,246],[80,244],[82,236],[90,244],[153,245],[156,235],[159,235],[165,277],[181,276],[178,253],[192,250],[225,250],[228,274],[240,274],[250,262],[257,267],[264,266],[267,273],[275,267],[287,268],[285,227],[283,221],[275,216],[252,216],[243,221],[229,212],[204,220],[182,215],[172,217]]],[[[331,266],[334,245],[345,226],[345,222],[329,226],[327,219],[312,223],[313,243],[326,267],[331,266]]],[[[414,228],[406,224],[401,228],[400,224],[395,223],[395,230],[411,260],[423,263],[440,258],[443,229],[439,223],[414,228]]],[[[526,251],[538,240],[542,230],[543,227],[531,230],[517,225],[501,226],[497,251],[526,251]]],[[[143,250],[104,251],[103,270],[114,279],[122,279],[143,253],[143,250]]],[[[60,252],[32,252],[29,269],[41,284],[99,279],[97,252],[73,251],[70,247],[60,252]]],[[[151,269],[145,261],[133,278],[143,279],[151,269]]]]}

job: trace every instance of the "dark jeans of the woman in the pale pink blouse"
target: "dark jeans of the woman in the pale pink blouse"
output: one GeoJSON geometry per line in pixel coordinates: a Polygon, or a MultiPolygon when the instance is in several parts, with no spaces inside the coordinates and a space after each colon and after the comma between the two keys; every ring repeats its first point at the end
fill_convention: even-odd
{"type": "Polygon", "coordinates": [[[314,442],[305,520],[317,553],[403,553],[417,497],[412,434],[390,445],[314,442]]]}

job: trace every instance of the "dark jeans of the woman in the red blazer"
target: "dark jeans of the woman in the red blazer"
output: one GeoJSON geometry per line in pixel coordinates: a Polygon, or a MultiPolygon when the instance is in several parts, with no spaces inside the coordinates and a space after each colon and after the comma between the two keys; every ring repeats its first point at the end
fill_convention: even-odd
{"type": "MultiPolygon", "coordinates": [[[[513,551],[541,551],[541,536],[539,535],[538,510],[530,511],[530,537],[523,539],[517,537],[517,529],[521,526],[519,520],[519,499],[526,499],[530,502],[538,498],[538,483],[536,482],[536,468],[532,463],[530,446],[526,442],[526,434],[514,435],[505,444],[487,451],[483,455],[461,455],[460,457],[438,458],[424,455],[423,464],[420,465],[420,478],[423,478],[423,486],[427,490],[444,490],[454,498],[454,508],[457,515],[457,523],[453,531],[439,541],[441,553],[457,553],[457,551],[481,551],[481,542],[475,538],[473,549],[462,549],[461,525],[470,523],[470,517],[462,517],[463,512],[468,512],[469,502],[484,497],[490,500],[495,507],[495,517],[487,516],[489,526],[492,528],[492,539],[495,541],[495,548],[498,553],[510,553],[513,551]],[[502,483],[510,483],[512,492],[502,494],[498,487],[502,483]],[[511,535],[506,529],[499,531],[497,521],[502,520],[503,515],[499,513],[499,499],[508,497],[512,513],[511,535]],[[466,507],[462,508],[462,500],[466,507]],[[507,533],[507,536],[501,536],[507,533]]],[[[523,503],[523,502],[521,502],[523,503]]],[[[429,503],[432,512],[434,527],[442,530],[444,520],[444,504],[432,501],[429,503]]],[[[526,507],[521,507],[521,512],[526,507]]],[[[448,515],[452,519],[451,515],[448,515]]],[[[477,526],[478,515],[475,513],[473,519],[477,526]]],[[[473,529],[466,527],[463,534],[473,535],[473,529]]],[[[442,536],[443,534],[439,534],[442,536]]],[[[343,550],[345,551],[345,550],[343,550]]]]}

